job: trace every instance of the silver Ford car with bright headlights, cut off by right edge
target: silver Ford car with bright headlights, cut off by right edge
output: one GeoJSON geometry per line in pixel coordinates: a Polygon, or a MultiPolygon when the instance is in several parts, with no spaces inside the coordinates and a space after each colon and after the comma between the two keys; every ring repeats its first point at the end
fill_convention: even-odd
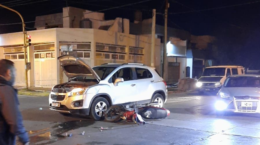
{"type": "Polygon", "coordinates": [[[260,75],[231,75],[217,93],[215,108],[222,111],[260,113],[260,75]]]}

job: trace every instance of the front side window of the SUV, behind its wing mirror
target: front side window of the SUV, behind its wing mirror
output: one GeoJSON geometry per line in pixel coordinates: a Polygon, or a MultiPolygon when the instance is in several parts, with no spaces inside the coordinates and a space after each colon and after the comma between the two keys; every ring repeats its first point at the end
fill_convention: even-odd
{"type": "Polygon", "coordinates": [[[115,82],[116,78],[121,77],[124,81],[133,80],[132,69],[130,67],[125,67],[119,69],[113,76],[108,80],[109,83],[115,82]]]}

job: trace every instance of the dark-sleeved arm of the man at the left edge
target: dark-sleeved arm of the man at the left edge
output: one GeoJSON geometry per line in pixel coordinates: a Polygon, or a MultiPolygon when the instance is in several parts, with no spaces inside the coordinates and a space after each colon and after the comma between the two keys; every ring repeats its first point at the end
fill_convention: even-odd
{"type": "Polygon", "coordinates": [[[23,120],[18,108],[18,102],[14,90],[10,86],[3,86],[1,94],[2,115],[6,123],[10,126],[10,132],[17,135],[23,144],[29,142],[27,131],[23,127],[23,120]]]}

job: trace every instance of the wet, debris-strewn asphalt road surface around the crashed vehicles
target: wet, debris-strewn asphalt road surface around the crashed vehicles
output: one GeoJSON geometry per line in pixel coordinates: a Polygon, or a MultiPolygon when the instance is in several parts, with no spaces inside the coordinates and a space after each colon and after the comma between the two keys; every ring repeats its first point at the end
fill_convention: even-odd
{"type": "MultiPolygon", "coordinates": [[[[260,114],[215,116],[214,95],[170,94],[168,118],[146,120],[145,125],[107,123],[84,116],[62,116],[48,108],[47,97],[19,96],[24,125],[31,144],[260,144],[260,114]],[[108,129],[100,131],[100,127],[108,129]],[[84,135],[81,132],[85,131],[84,135]],[[66,133],[72,133],[66,137],[66,133]]],[[[20,143],[17,143],[20,144],[20,143]]]]}

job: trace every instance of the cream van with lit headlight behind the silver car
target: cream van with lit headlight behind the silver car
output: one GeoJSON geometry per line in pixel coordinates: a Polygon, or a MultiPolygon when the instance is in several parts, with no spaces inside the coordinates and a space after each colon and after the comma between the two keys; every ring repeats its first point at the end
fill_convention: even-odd
{"type": "Polygon", "coordinates": [[[232,65],[206,67],[196,83],[197,90],[200,94],[210,91],[217,92],[228,76],[245,74],[244,69],[242,66],[232,65]]]}

